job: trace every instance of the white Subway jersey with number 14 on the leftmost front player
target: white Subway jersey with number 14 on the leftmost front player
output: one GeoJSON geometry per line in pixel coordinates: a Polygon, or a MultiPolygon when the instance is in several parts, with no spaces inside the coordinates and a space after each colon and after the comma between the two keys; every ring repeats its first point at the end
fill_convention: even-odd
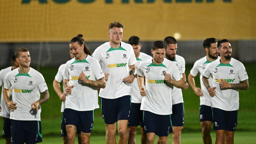
{"type": "Polygon", "coordinates": [[[40,99],[40,92],[48,90],[43,75],[33,68],[28,73],[19,73],[19,68],[7,73],[5,89],[12,88],[12,102],[17,103],[17,109],[11,111],[13,120],[40,120],[41,107],[31,108],[31,104],[40,99]]]}

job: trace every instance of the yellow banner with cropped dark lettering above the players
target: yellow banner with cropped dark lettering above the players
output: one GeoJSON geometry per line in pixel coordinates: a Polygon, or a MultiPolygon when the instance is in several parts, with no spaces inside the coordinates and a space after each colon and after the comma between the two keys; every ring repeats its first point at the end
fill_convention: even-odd
{"type": "Polygon", "coordinates": [[[0,0],[0,42],[107,41],[123,24],[123,40],[256,39],[256,0],[0,0]]]}

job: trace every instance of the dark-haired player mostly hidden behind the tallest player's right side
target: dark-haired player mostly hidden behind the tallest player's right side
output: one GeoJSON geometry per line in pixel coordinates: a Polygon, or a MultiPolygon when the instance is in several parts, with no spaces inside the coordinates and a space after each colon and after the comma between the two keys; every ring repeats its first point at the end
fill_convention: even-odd
{"type": "MultiPolygon", "coordinates": [[[[135,63],[136,69],[138,68],[140,62],[147,59],[152,59],[151,56],[140,52],[142,45],[140,44],[140,38],[137,36],[131,36],[129,38],[129,44],[132,45],[133,51],[136,57],[137,62],[135,63]]],[[[143,111],[140,110],[140,105],[142,97],[140,95],[139,85],[137,83],[137,74],[132,83],[132,103],[130,110],[130,119],[128,121],[128,144],[136,144],[136,132],[137,126],[140,125],[141,132],[141,144],[146,143],[146,135],[144,134],[144,125],[143,125],[143,111]]]]}

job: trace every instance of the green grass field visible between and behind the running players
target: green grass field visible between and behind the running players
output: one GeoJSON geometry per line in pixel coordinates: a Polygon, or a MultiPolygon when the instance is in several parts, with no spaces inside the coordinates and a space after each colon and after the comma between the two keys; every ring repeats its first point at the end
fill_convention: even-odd
{"type": "MultiPolygon", "coordinates": [[[[235,131],[236,144],[254,144],[256,142],[256,89],[254,72],[256,70],[255,63],[244,64],[249,76],[249,90],[239,91],[239,115],[238,126],[235,131]]],[[[188,76],[192,65],[186,65],[186,76],[188,76]]],[[[52,82],[55,78],[58,68],[40,68],[40,73],[43,74],[50,93],[50,99],[42,105],[41,123],[44,144],[61,144],[60,135],[61,116],[60,107],[61,101],[52,87],[52,82]]],[[[195,78],[196,84],[199,87],[199,76],[195,78]]],[[[183,144],[200,144],[201,127],[199,124],[199,97],[194,94],[194,91],[189,87],[188,90],[183,90],[184,108],[185,108],[185,125],[182,133],[183,144]]],[[[0,118],[0,131],[3,128],[3,120],[0,118]]],[[[138,130],[138,135],[140,132],[138,130]]],[[[215,132],[212,132],[213,143],[215,142],[215,132]]],[[[136,140],[140,143],[140,137],[136,140]]],[[[4,139],[0,139],[0,144],[3,144],[4,139]]],[[[171,142],[171,139],[169,139],[171,142]]],[[[92,144],[105,143],[105,125],[101,118],[100,109],[95,110],[94,130],[91,137],[92,144]]]]}

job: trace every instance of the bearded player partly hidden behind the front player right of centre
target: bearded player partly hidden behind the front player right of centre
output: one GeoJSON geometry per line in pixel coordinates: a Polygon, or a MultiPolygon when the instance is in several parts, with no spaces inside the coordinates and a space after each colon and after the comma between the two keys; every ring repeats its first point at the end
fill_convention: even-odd
{"type": "MultiPolygon", "coordinates": [[[[186,82],[185,75],[185,59],[176,54],[177,52],[177,41],[172,36],[168,36],[164,39],[164,42],[167,45],[165,58],[173,61],[181,71],[183,75],[184,89],[187,90],[188,83],[186,82]]],[[[171,120],[173,124],[173,144],[180,144],[181,131],[184,126],[184,104],[183,104],[183,95],[180,88],[173,87],[172,93],[173,113],[171,114],[171,120]]]]}

